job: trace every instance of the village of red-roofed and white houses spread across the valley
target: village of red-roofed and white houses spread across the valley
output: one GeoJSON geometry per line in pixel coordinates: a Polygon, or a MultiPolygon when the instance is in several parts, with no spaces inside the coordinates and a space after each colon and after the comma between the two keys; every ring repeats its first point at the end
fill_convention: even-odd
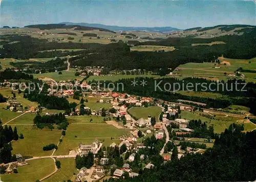
{"type": "MultiPolygon", "coordinates": [[[[60,81],[59,84],[66,85],[67,82],[60,81]]],[[[68,82],[69,83],[69,82],[68,82]]],[[[71,83],[71,82],[70,82],[71,83]]],[[[119,137],[120,143],[112,143],[107,148],[118,148],[118,150],[125,150],[122,153],[123,158],[126,156],[126,160],[123,161],[123,165],[117,167],[116,165],[110,165],[110,158],[108,157],[106,147],[102,145],[100,140],[95,139],[95,141],[91,145],[84,145],[80,143],[76,149],[70,150],[68,157],[70,156],[87,156],[89,152],[92,152],[94,155],[94,165],[92,168],[87,169],[86,167],[82,167],[78,174],[76,175],[76,181],[93,181],[97,179],[101,179],[105,176],[113,176],[113,177],[122,177],[124,174],[128,173],[130,177],[134,177],[139,175],[138,170],[133,170],[131,165],[135,158],[136,153],[141,153],[141,149],[144,150],[148,146],[144,144],[146,138],[154,137],[155,140],[162,140],[164,145],[161,146],[162,149],[160,151],[160,155],[163,155],[164,161],[170,160],[170,155],[172,155],[172,151],[165,151],[165,145],[169,142],[172,145],[177,145],[169,138],[169,131],[166,127],[170,127],[172,124],[177,125],[178,129],[176,129],[176,134],[185,134],[189,133],[193,130],[187,128],[189,120],[178,118],[179,112],[183,110],[191,111],[194,107],[191,106],[183,106],[180,104],[168,103],[162,100],[155,100],[149,97],[138,97],[131,96],[129,94],[119,94],[114,92],[105,92],[102,90],[92,90],[89,84],[86,81],[83,81],[82,84],[77,83],[78,86],[84,86],[91,92],[82,92],[81,96],[84,98],[92,99],[96,98],[95,104],[97,103],[109,103],[111,106],[109,108],[100,108],[98,110],[91,110],[90,107],[83,107],[84,110],[88,110],[88,115],[91,116],[103,116],[105,118],[112,118],[112,120],[105,121],[108,124],[115,126],[116,128],[129,128],[130,135],[123,135],[123,137],[119,137]],[[151,116],[151,113],[148,112],[147,118],[136,118],[134,117],[129,110],[131,108],[147,108],[147,107],[159,107],[161,108],[161,112],[158,116],[151,116]],[[157,118],[157,119],[156,119],[157,118]],[[98,153],[102,152],[103,155],[99,157],[98,153]],[[113,171],[113,173],[111,173],[113,171]]],[[[48,84],[53,84],[51,81],[48,84]]],[[[7,84],[8,85],[8,84],[7,84]]],[[[61,96],[61,97],[73,97],[75,90],[73,89],[65,89],[65,90],[54,90],[49,88],[49,95],[61,96]]],[[[85,102],[86,104],[86,102],[85,102]]],[[[26,107],[23,110],[23,105],[19,102],[15,101],[15,96],[13,93],[12,98],[8,98],[6,101],[7,108],[11,111],[16,112],[24,112],[30,111],[36,113],[39,108],[37,107],[26,107]]],[[[87,105],[87,104],[86,104],[87,105]]],[[[46,109],[45,107],[40,107],[40,109],[46,109]]],[[[51,113],[46,113],[46,115],[50,115],[51,113]]],[[[83,115],[81,113],[81,108],[76,108],[69,116],[80,116],[83,115]]],[[[190,147],[187,147],[185,150],[181,149],[181,146],[178,146],[178,157],[184,156],[185,152],[202,152],[202,149],[193,150],[190,147]]],[[[13,170],[18,166],[26,165],[26,161],[20,154],[16,154],[17,162],[12,163],[7,169],[8,173],[12,173],[13,170]]],[[[154,167],[154,164],[149,160],[149,156],[146,154],[140,154],[139,160],[143,164],[143,168],[151,169],[154,167]]]]}

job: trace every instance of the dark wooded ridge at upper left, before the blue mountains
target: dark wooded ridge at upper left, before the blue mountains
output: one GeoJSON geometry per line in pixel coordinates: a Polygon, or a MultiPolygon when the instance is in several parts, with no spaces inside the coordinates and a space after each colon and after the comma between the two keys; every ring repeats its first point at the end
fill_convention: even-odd
{"type": "Polygon", "coordinates": [[[116,33],[114,31],[108,30],[108,29],[102,29],[102,28],[96,28],[96,27],[85,27],[85,26],[80,26],[80,25],[66,25],[66,24],[39,24],[39,25],[29,25],[25,26],[26,28],[37,28],[40,30],[50,30],[50,29],[73,29],[74,30],[99,30],[101,32],[112,32],[116,33]]]}

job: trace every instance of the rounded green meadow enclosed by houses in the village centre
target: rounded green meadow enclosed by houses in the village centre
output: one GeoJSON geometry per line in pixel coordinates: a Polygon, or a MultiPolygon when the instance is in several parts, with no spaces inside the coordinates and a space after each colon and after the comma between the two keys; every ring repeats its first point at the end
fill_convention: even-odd
{"type": "Polygon", "coordinates": [[[158,121],[158,116],[162,112],[162,109],[158,106],[151,106],[151,107],[132,107],[129,109],[131,115],[136,117],[137,119],[144,118],[147,119],[149,115],[151,117],[155,117],[156,121],[158,121]]]}

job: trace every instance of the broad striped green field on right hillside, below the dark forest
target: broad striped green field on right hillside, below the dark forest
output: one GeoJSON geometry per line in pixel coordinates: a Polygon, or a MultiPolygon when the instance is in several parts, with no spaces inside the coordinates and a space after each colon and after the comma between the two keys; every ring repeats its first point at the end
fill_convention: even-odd
{"type": "MultiPolygon", "coordinates": [[[[182,71],[174,71],[182,76],[198,76],[198,77],[206,77],[212,78],[215,80],[227,80],[228,77],[224,76],[224,73],[234,74],[234,71],[242,67],[244,70],[253,70],[256,68],[256,58],[252,59],[228,59],[219,57],[220,62],[226,61],[229,62],[230,65],[224,64],[216,64],[216,63],[186,63],[179,65],[179,68],[182,71]],[[249,61],[251,63],[249,63],[249,61]],[[215,68],[215,66],[220,66],[220,68],[215,68]]],[[[245,75],[246,81],[256,81],[254,78],[256,77],[255,73],[243,73],[245,75]]]]}

